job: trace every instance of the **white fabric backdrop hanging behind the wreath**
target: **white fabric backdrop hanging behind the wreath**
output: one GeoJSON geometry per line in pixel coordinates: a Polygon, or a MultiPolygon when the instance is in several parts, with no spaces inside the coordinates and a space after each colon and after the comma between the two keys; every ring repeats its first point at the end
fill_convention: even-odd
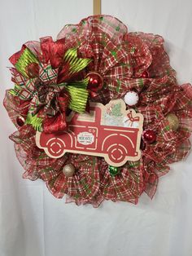
{"type": "MultiPolygon", "coordinates": [[[[92,0],[0,0],[0,256],[191,256],[191,160],[172,165],[155,198],[138,205],[106,201],[64,204],[45,183],[21,178],[22,167],[8,139],[15,127],[2,108],[13,86],[8,57],[28,40],[56,38],[64,24],[92,15],[92,0]]],[[[159,33],[179,82],[192,82],[191,0],[103,0],[103,14],[129,30],[159,33]]]]}

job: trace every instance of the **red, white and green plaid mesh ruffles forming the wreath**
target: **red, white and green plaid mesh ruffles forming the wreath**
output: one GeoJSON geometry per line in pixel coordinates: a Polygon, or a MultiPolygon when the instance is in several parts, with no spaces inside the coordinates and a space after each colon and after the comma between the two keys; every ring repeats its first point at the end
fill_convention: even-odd
{"type": "MultiPolygon", "coordinates": [[[[55,197],[61,198],[67,194],[67,202],[74,201],[76,205],[91,203],[98,207],[103,200],[136,204],[142,192],[152,198],[159,177],[168,173],[168,165],[184,159],[189,152],[192,126],[192,88],[190,84],[177,85],[175,71],[164,51],[164,39],[153,34],[128,33],[120,20],[109,15],[97,15],[81,20],[77,25],[66,25],[56,42],[44,38],[41,43],[28,42],[26,46],[33,53],[43,53],[43,58],[42,55],[38,57],[42,63],[50,62],[50,66],[42,68],[41,80],[44,83],[50,82],[48,77],[55,79],[55,72],[59,72],[58,83],[65,81],[69,67],[62,66],[64,53],[70,48],[77,48],[80,58],[92,60],[82,70],[81,78],[85,78],[89,72],[100,73],[103,77],[104,86],[94,98],[95,101],[106,104],[110,99],[121,98],[128,90],[137,90],[139,104],[136,111],[144,116],[144,130],[155,130],[157,140],[146,144],[139,161],[128,161],[120,167],[119,174],[111,176],[102,157],[72,153],[59,159],[46,156],[36,146],[33,127],[16,125],[18,130],[11,135],[11,139],[15,142],[17,157],[24,166],[24,178],[43,179],[55,197]],[[47,47],[47,41],[50,47],[47,47]],[[142,77],[145,71],[149,77],[142,77]],[[168,113],[174,113],[179,118],[178,130],[170,129],[166,118],[168,113]],[[76,169],[72,177],[66,177],[62,171],[68,163],[72,163],[76,169]]],[[[16,55],[14,58],[12,63],[18,59],[16,55]]],[[[16,124],[16,117],[28,111],[28,104],[33,104],[36,111],[34,106],[41,100],[37,97],[37,91],[34,91],[32,101],[28,97],[28,91],[30,95],[37,77],[23,77],[15,68],[11,68],[11,73],[15,84],[21,88],[27,85],[23,91],[26,101],[21,96],[8,93],[4,100],[7,112],[16,124]]],[[[47,97],[51,101],[62,88],[50,88],[47,97]]],[[[50,108],[49,104],[46,106],[50,108]]]]}

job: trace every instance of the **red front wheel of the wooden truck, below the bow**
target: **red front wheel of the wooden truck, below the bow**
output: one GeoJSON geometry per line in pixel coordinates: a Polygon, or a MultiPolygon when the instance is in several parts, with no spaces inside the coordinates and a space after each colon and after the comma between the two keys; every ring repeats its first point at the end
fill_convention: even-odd
{"type": "Polygon", "coordinates": [[[65,145],[62,139],[52,138],[47,141],[46,147],[51,157],[62,157],[65,145]]]}

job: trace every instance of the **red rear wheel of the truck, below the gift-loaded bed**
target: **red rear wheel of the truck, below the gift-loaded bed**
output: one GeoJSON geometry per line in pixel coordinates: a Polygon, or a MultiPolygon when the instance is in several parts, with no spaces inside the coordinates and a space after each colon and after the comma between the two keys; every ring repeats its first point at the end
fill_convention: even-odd
{"type": "Polygon", "coordinates": [[[123,146],[121,145],[114,145],[108,150],[108,157],[110,161],[114,162],[115,164],[124,161],[126,157],[126,152],[123,146]]]}

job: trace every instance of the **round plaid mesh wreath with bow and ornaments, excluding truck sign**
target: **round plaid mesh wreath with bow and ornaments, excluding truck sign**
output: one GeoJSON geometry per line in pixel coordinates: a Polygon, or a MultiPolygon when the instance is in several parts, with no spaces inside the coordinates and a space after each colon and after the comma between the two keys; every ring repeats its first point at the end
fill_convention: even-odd
{"type": "MultiPolygon", "coordinates": [[[[26,42],[10,61],[15,87],[7,90],[4,106],[18,129],[10,138],[23,177],[44,180],[55,197],[67,194],[67,202],[94,207],[103,200],[137,204],[142,192],[152,198],[168,165],[189,152],[192,88],[178,86],[159,35],[128,33],[109,15],[89,16],[66,25],[55,42],[26,42]],[[37,147],[37,130],[60,135],[68,131],[69,115],[89,115],[91,102],[111,99],[142,113],[137,161],[116,167],[85,153],[52,158],[37,147]]],[[[113,120],[118,106],[110,111],[113,120]]]]}

